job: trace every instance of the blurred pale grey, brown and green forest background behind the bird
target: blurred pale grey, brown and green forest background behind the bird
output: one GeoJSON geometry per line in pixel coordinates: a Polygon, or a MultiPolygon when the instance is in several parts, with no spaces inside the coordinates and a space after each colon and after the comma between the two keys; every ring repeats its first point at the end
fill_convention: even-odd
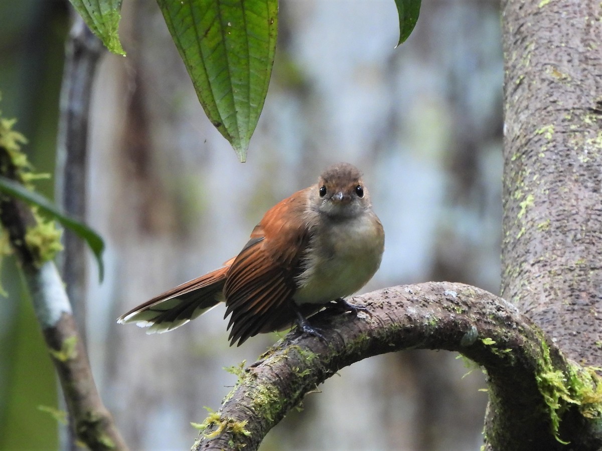
{"type": "MultiPolygon", "coordinates": [[[[497,0],[429,0],[405,44],[393,0],[282,0],[264,111],[238,164],[203,114],[153,0],[123,2],[127,58],[105,54],[90,117],[88,224],[107,242],[92,266],[90,360],[132,449],[188,448],[275,335],[228,348],[223,308],[169,334],[114,319],[231,257],[265,209],[326,165],[364,170],[386,232],[366,287],[452,280],[498,292],[501,60],[497,0]]],[[[0,2],[0,109],[17,117],[36,169],[52,172],[69,11],[63,1],[0,2]]],[[[40,182],[52,195],[52,181],[40,182]]],[[[90,260],[91,264],[92,260],[90,260]]],[[[51,363],[17,272],[3,268],[0,449],[55,449],[51,363]]],[[[448,352],[370,358],[310,394],[262,450],[477,450],[479,371],[448,352]]]]}

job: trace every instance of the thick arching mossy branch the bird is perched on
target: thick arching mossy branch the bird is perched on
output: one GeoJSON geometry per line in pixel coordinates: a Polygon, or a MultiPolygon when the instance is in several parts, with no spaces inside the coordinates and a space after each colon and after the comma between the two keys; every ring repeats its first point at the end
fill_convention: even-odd
{"type": "MultiPolygon", "coordinates": [[[[580,443],[574,426],[591,421],[582,414],[579,390],[562,382],[579,370],[504,299],[464,284],[424,283],[377,290],[353,302],[367,305],[369,313],[318,313],[312,325],[326,340],[293,331],[247,368],[220,410],[205,420],[193,449],[255,450],[316,385],[356,361],[402,349],[458,351],[486,370],[490,449],[531,450],[537,443],[554,450],[561,446],[558,435],[580,443]],[[550,374],[560,375],[560,382],[550,374]],[[558,395],[562,390],[574,403],[558,395]],[[571,427],[558,429],[555,418],[570,418],[571,427]]],[[[590,388],[595,391],[593,383],[590,388]]],[[[595,448],[579,449],[600,444],[598,433],[595,448]]]]}

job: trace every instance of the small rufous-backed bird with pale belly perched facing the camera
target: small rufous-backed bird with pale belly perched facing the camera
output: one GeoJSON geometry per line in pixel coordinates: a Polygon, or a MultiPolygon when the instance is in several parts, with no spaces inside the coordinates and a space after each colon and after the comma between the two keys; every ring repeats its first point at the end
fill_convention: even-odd
{"type": "Polygon", "coordinates": [[[163,333],[225,302],[230,346],[294,325],[323,337],[308,316],[329,306],[365,309],[344,298],[373,277],[384,246],[383,226],[361,171],[334,164],[317,183],[269,209],[236,257],[138,305],[117,322],[163,333]]]}

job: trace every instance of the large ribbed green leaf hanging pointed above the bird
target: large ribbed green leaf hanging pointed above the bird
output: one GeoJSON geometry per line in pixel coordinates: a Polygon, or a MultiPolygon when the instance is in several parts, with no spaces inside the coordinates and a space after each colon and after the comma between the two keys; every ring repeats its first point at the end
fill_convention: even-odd
{"type": "Polygon", "coordinates": [[[157,0],[209,120],[245,161],[264,105],[278,0],[157,0]]]}

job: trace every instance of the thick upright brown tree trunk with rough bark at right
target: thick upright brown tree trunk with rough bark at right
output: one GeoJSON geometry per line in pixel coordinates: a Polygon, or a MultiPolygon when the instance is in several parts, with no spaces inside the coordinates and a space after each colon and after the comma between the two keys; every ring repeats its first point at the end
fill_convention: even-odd
{"type": "Polygon", "coordinates": [[[602,366],[602,4],[503,6],[502,290],[567,357],[602,366]]]}

